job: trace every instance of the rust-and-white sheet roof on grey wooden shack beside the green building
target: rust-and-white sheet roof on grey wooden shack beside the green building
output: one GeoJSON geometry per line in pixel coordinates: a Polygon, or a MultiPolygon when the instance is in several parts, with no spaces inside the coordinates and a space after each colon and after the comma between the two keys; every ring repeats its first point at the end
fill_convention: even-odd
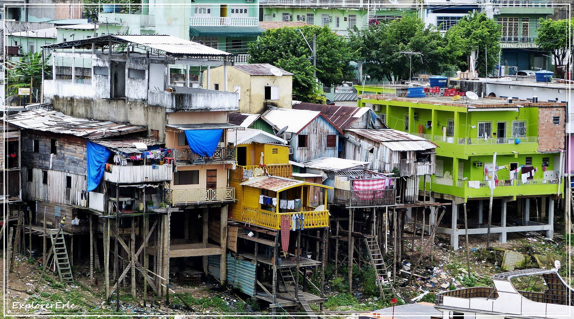
{"type": "Polygon", "coordinates": [[[393,129],[348,129],[347,131],[356,133],[371,141],[382,143],[393,151],[419,151],[437,147],[435,143],[430,142],[428,139],[393,129]]]}

